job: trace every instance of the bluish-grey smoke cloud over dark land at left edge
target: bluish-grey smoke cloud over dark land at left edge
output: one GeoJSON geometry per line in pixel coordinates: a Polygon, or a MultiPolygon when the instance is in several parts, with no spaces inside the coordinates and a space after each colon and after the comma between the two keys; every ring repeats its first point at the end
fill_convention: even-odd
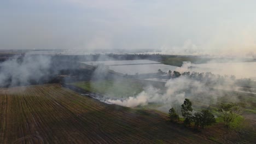
{"type": "Polygon", "coordinates": [[[49,56],[14,57],[0,63],[0,85],[2,87],[24,86],[47,80],[50,74],[49,56]]]}

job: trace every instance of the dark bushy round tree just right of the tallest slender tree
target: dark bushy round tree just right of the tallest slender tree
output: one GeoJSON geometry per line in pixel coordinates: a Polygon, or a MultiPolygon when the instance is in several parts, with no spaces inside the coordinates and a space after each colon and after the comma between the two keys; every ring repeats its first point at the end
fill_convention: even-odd
{"type": "Polygon", "coordinates": [[[193,122],[195,123],[195,126],[197,128],[201,127],[202,129],[205,128],[206,125],[216,123],[214,115],[208,110],[202,110],[201,112],[194,113],[192,119],[193,122]]]}

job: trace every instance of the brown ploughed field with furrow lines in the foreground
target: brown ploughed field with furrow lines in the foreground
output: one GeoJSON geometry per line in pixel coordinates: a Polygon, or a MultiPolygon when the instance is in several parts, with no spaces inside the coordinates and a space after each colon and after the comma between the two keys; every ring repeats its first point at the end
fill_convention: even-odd
{"type": "Polygon", "coordinates": [[[221,124],[194,133],[164,113],[108,105],[60,85],[0,89],[0,143],[231,143],[221,124]]]}

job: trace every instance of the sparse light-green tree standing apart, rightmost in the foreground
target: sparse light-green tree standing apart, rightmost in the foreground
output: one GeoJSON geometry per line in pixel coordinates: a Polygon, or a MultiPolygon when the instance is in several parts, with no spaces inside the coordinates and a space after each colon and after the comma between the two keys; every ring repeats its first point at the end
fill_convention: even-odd
{"type": "Polygon", "coordinates": [[[221,104],[219,112],[223,115],[223,121],[226,127],[230,126],[230,123],[234,122],[235,118],[241,116],[244,112],[243,107],[245,105],[242,103],[228,103],[221,104]]]}

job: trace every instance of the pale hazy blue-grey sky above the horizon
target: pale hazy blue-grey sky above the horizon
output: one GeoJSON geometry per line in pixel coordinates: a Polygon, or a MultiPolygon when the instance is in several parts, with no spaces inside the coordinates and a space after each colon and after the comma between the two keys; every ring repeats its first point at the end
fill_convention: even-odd
{"type": "Polygon", "coordinates": [[[0,49],[256,53],[256,1],[1,0],[0,49]]]}

